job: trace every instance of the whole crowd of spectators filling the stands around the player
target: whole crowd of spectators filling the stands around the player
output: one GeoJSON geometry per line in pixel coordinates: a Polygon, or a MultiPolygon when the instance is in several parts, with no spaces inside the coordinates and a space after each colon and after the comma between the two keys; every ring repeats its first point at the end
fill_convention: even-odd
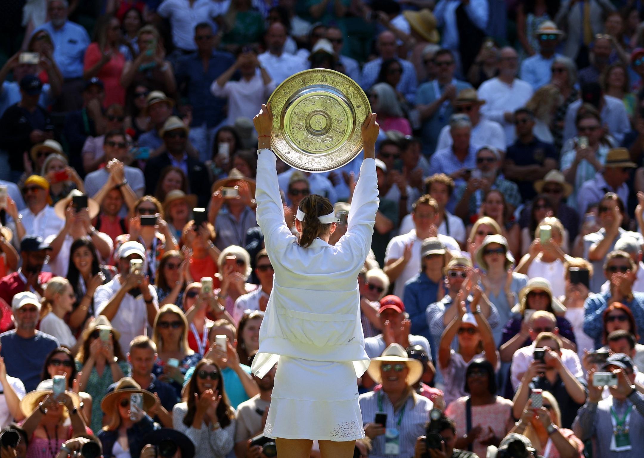
{"type": "MultiPolygon", "coordinates": [[[[380,125],[354,456],[639,456],[641,3],[1,3],[3,458],[272,456],[251,120],[309,68],[380,125]]],[[[292,231],[362,158],[278,158],[292,231]]]]}

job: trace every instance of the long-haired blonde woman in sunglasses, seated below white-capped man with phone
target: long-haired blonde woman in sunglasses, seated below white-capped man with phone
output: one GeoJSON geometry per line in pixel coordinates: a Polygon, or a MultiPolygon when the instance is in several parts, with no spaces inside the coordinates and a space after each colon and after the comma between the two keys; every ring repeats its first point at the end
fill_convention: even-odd
{"type": "Polygon", "coordinates": [[[185,372],[202,358],[188,344],[188,321],[179,307],[174,304],[161,307],[156,314],[152,340],[158,351],[152,372],[172,385],[179,396],[185,372]]]}

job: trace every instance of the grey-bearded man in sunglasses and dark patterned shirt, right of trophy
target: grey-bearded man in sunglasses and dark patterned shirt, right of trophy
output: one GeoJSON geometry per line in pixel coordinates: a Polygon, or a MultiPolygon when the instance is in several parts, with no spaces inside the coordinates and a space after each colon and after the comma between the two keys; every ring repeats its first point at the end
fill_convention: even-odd
{"type": "Polygon", "coordinates": [[[501,155],[498,149],[483,146],[477,151],[477,167],[471,173],[466,184],[457,186],[454,193],[458,202],[454,215],[469,221],[476,215],[478,207],[489,189],[498,189],[505,196],[507,204],[513,209],[522,202],[519,188],[515,182],[506,180],[498,175],[501,165],[501,155]],[[478,173],[476,172],[478,170],[478,173]]]}

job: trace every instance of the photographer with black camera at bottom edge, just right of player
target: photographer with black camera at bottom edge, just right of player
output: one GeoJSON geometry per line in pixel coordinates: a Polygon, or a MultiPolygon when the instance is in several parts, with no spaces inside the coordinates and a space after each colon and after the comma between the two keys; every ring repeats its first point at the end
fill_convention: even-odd
{"type": "Polygon", "coordinates": [[[441,415],[437,420],[430,420],[425,434],[416,439],[413,458],[478,458],[476,453],[454,448],[456,424],[450,417],[441,415]]]}

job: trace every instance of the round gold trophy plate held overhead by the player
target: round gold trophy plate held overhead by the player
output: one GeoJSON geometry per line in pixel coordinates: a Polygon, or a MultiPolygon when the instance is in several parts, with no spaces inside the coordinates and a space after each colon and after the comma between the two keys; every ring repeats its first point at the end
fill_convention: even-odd
{"type": "Polygon", "coordinates": [[[360,129],[371,106],[348,76],[325,68],[305,70],[279,84],[269,102],[273,151],[289,166],[325,172],[361,151],[360,129]]]}

